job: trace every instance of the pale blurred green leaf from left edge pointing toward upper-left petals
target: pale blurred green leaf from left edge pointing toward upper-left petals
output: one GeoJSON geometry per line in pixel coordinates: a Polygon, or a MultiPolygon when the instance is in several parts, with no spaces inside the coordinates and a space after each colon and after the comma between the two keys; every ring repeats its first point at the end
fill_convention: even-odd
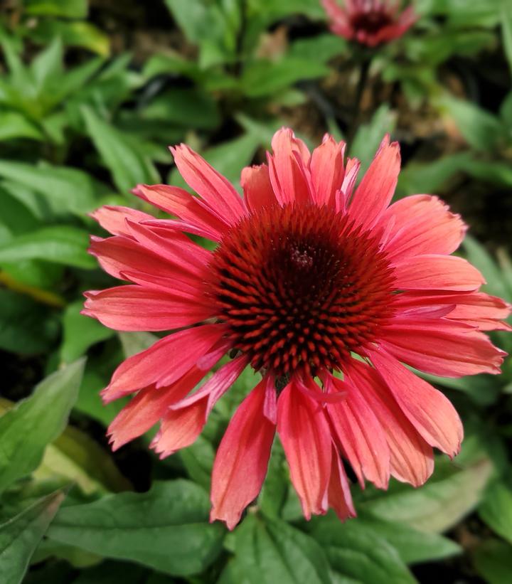
{"type": "Polygon", "coordinates": [[[0,160],[0,176],[41,194],[57,214],[91,211],[98,186],[84,171],[48,163],[0,160]]]}

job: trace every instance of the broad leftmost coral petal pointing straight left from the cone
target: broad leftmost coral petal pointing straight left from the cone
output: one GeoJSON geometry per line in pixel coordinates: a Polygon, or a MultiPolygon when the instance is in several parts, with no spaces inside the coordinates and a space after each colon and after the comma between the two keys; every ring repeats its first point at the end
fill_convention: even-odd
{"type": "Polygon", "coordinates": [[[82,314],[95,317],[116,331],[168,331],[213,317],[214,309],[179,295],[143,286],[117,286],[85,292],[82,314]]]}

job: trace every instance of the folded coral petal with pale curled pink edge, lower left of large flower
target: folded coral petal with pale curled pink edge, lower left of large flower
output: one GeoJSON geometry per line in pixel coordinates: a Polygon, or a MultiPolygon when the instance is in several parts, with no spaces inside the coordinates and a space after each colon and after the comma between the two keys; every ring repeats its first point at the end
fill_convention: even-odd
{"type": "Polygon", "coordinates": [[[235,383],[246,365],[246,356],[225,363],[196,393],[171,405],[151,442],[151,447],[161,458],[196,441],[215,402],[235,383]]]}

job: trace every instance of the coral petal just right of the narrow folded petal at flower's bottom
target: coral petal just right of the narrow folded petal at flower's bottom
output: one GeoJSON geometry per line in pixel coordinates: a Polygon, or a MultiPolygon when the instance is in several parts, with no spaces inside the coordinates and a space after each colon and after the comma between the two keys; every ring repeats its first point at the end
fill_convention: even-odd
{"type": "MultiPolygon", "coordinates": [[[[326,378],[326,386],[338,386],[338,379],[326,378]]],[[[383,428],[361,393],[348,384],[346,400],[327,405],[327,412],[339,444],[356,472],[361,487],[368,479],[379,489],[388,487],[390,452],[383,428]]]]}

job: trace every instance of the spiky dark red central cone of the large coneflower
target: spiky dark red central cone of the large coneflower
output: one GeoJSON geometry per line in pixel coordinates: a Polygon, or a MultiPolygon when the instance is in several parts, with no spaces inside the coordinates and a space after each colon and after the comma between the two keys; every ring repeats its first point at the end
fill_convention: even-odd
{"type": "Polygon", "coordinates": [[[233,347],[278,377],[341,368],[393,314],[378,241],[326,206],[265,208],[213,255],[210,294],[233,347]]]}

